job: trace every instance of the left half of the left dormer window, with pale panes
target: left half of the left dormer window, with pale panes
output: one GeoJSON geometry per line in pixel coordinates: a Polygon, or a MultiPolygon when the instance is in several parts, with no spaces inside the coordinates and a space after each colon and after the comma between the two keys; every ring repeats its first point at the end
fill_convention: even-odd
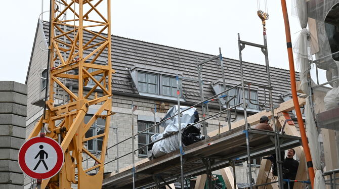
{"type": "Polygon", "coordinates": [[[138,90],[140,92],[158,93],[158,77],[156,74],[138,72],[138,90]]]}

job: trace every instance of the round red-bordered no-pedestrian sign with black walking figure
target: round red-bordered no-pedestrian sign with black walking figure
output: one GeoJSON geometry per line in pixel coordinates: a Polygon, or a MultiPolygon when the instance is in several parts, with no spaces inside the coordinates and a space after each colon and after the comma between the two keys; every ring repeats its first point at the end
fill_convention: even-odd
{"type": "Polygon", "coordinates": [[[64,153],[53,138],[36,136],[21,146],[18,162],[22,172],[27,176],[48,179],[60,171],[64,153]]]}

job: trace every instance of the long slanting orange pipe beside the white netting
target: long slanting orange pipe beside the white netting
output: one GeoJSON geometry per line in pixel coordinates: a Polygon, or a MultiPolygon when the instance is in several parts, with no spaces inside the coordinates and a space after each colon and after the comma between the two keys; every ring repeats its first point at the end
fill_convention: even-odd
{"type": "Polygon", "coordinates": [[[287,53],[288,53],[288,62],[289,62],[289,75],[291,79],[291,90],[292,90],[292,98],[294,104],[294,110],[296,113],[296,118],[298,119],[300,134],[302,136],[302,143],[306,157],[307,169],[309,172],[309,177],[311,180],[312,188],[314,188],[314,169],[312,164],[312,157],[310,153],[310,148],[308,146],[308,140],[305,132],[304,121],[302,118],[302,113],[300,111],[298,96],[296,95],[296,84],[295,84],[295,72],[294,72],[294,61],[293,61],[293,52],[292,52],[292,43],[291,43],[291,33],[289,29],[289,21],[288,21],[288,14],[286,8],[286,1],[281,0],[281,8],[282,14],[284,17],[285,23],[285,33],[286,33],[286,42],[287,42],[287,53]]]}

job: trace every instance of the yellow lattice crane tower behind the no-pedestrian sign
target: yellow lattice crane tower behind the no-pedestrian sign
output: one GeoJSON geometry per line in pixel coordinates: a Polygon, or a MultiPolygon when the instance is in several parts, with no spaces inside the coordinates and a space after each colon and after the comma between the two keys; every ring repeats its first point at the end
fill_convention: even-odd
{"type": "Polygon", "coordinates": [[[72,183],[80,189],[101,188],[110,117],[113,115],[111,81],[115,71],[111,65],[110,0],[51,0],[49,32],[48,99],[44,116],[28,138],[46,132],[46,136],[61,144],[65,161],[60,173],[43,180],[41,188],[71,188],[72,183]],[[103,7],[107,8],[105,14],[98,10],[103,7]],[[65,13],[68,19],[63,19],[65,13]],[[103,53],[107,57],[106,64],[96,64],[103,53]],[[77,91],[66,86],[68,81],[77,83],[77,91]],[[86,87],[89,81],[94,83],[92,88],[86,87]],[[56,87],[67,93],[67,103],[55,103],[56,87]],[[100,92],[96,92],[99,88],[100,92]],[[91,106],[99,109],[84,123],[91,106]],[[86,138],[86,132],[98,118],[105,120],[104,132],[86,138]],[[97,156],[84,144],[98,138],[103,144],[97,156]],[[93,166],[83,166],[86,157],[95,162],[93,166]]]}

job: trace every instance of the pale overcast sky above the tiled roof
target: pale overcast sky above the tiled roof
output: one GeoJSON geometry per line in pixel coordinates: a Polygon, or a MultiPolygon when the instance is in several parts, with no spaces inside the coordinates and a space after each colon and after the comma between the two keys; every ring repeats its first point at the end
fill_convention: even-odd
{"type": "MultiPolygon", "coordinates": [[[[264,1],[260,1],[265,11],[264,1]]],[[[268,1],[266,23],[269,62],[288,69],[286,38],[280,1],[268,1]]],[[[298,19],[287,0],[292,43],[298,19]]],[[[49,1],[44,1],[45,11],[49,1]]],[[[257,0],[111,0],[112,34],[180,49],[239,60],[237,33],[242,40],[263,44],[257,0]]],[[[0,11],[0,80],[25,82],[41,1],[4,1],[0,11]]],[[[48,14],[45,14],[45,20],[48,14]]],[[[260,49],[246,46],[243,61],[265,64],[260,49]]]]}

